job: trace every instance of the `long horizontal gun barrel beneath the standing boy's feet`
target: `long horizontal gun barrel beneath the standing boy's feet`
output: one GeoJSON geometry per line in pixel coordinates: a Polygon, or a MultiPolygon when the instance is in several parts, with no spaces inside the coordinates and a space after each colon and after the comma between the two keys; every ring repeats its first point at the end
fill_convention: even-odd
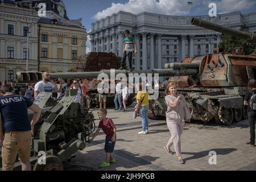
{"type": "MultiPolygon", "coordinates": [[[[159,76],[194,76],[199,73],[198,68],[191,69],[147,69],[147,70],[139,70],[139,71],[126,71],[126,70],[103,70],[100,72],[67,72],[67,73],[49,73],[50,78],[52,80],[63,78],[63,79],[77,79],[77,78],[97,78],[101,73],[105,73],[109,78],[117,76],[119,73],[123,73],[127,77],[135,76],[138,73],[141,76],[142,73],[148,75],[152,74],[154,76],[156,73],[159,76]]],[[[103,77],[103,76],[101,76],[103,77]]],[[[19,83],[35,83],[37,81],[42,80],[41,72],[17,72],[16,73],[16,81],[19,83]]]]}

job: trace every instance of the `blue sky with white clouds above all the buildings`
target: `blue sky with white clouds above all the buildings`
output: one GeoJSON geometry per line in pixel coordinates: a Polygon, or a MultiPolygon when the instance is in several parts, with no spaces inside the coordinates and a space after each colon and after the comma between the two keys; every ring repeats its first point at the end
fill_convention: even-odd
{"type": "MultiPolygon", "coordinates": [[[[256,0],[63,0],[69,19],[82,18],[86,31],[90,24],[106,16],[127,11],[139,14],[143,11],[166,15],[208,15],[209,3],[216,3],[217,14],[241,11],[256,12],[256,0]],[[192,2],[192,5],[188,5],[192,2]]],[[[90,49],[89,37],[86,45],[90,49]]]]}

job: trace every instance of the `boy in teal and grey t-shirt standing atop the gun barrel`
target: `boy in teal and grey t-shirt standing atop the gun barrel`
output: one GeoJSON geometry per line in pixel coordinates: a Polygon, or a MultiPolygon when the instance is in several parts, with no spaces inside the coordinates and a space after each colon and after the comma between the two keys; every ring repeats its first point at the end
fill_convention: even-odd
{"type": "Polygon", "coordinates": [[[121,63],[121,68],[120,69],[126,69],[126,56],[128,56],[129,60],[129,67],[130,71],[133,71],[132,68],[132,59],[133,59],[133,51],[134,54],[137,54],[137,46],[135,44],[134,38],[130,35],[130,31],[126,30],[125,31],[125,38],[123,39],[123,59],[121,63]]]}

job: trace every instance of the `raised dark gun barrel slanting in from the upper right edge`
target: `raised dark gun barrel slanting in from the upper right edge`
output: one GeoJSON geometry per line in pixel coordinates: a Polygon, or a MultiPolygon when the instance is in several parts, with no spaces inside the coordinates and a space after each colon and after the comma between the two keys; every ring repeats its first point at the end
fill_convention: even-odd
{"type": "Polygon", "coordinates": [[[250,42],[256,43],[255,34],[249,34],[247,32],[234,30],[233,28],[224,27],[224,26],[221,26],[220,24],[216,24],[216,23],[212,23],[212,22],[207,22],[205,20],[202,20],[202,19],[196,18],[196,17],[193,17],[191,19],[191,24],[199,26],[199,27],[207,28],[209,30],[213,30],[216,32],[220,32],[222,34],[236,36],[241,39],[245,39],[250,42]]]}

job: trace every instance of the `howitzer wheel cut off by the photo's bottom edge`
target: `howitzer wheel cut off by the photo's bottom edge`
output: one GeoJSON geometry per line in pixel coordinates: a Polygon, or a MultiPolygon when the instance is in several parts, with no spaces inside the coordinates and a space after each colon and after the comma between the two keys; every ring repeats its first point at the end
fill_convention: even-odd
{"type": "Polygon", "coordinates": [[[46,155],[46,164],[39,164],[36,160],[33,171],[64,171],[63,163],[55,155],[46,155]]]}

